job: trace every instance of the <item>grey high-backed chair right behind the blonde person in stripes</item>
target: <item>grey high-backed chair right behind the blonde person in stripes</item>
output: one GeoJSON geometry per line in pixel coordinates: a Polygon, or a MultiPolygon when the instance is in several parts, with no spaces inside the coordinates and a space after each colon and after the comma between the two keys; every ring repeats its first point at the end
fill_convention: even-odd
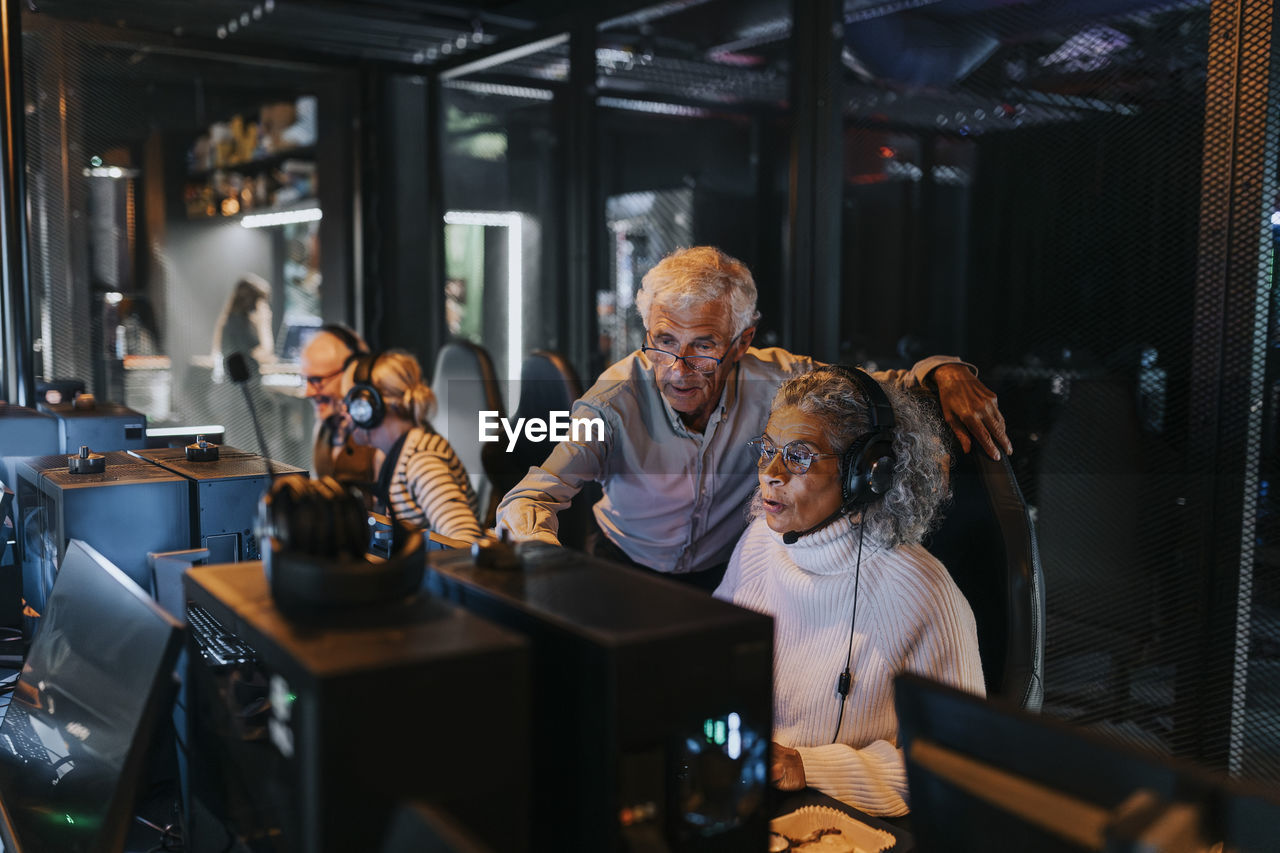
{"type": "Polygon", "coordinates": [[[504,414],[493,359],[484,347],[470,341],[449,341],[435,356],[431,391],[438,403],[431,425],[449,441],[467,469],[471,488],[480,500],[480,525],[493,526],[497,501],[481,457],[486,444],[479,437],[481,411],[504,414]]]}

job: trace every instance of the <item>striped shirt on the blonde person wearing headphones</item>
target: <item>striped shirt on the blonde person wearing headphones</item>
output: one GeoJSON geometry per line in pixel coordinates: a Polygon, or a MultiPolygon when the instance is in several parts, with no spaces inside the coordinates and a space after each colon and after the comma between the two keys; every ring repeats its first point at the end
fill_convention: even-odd
{"type": "MultiPolygon", "coordinates": [[[[388,464],[390,460],[388,460],[388,464]]],[[[479,501],[444,437],[415,426],[396,457],[388,498],[396,520],[453,539],[480,538],[479,501]]]]}

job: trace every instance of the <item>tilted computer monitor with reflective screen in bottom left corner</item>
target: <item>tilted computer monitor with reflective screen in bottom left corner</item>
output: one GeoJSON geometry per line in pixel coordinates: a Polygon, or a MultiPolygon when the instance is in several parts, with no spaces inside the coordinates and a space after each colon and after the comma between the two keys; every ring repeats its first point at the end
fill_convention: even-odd
{"type": "Polygon", "coordinates": [[[123,847],[180,642],[146,592],[72,540],[0,722],[6,853],[123,847]]]}

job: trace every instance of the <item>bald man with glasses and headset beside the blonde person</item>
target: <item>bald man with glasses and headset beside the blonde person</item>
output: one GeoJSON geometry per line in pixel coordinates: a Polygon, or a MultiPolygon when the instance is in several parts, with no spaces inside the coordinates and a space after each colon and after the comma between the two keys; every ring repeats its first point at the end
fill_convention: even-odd
{"type": "Polygon", "coordinates": [[[333,476],[367,496],[378,470],[378,451],[351,441],[351,423],[342,407],[342,371],[365,352],[369,347],[358,334],[334,323],[320,327],[300,359],[307,400],[316,410],[311,467],[316,476],[333,476]]]}

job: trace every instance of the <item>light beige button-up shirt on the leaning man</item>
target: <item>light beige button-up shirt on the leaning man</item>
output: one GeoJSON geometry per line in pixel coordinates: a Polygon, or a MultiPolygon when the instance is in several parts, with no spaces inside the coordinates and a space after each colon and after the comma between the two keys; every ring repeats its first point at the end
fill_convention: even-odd
{"type": "MultiPolygon", "coordinates": [[[[922,387],[931,370],[955,361],[932,356],[910,370],[872,375],[922,387]]],[[[695,433],[663,398],[649,360],[631,353],[573,403],[575,420],[603,421],[603,439],[593,430],[590,439],[556,444],[498,505],[498,530],[517,542],[558,544],[556,514],[586,482],[598,480],[604,497],[595,520],[636,562],[673,574],[723,564],[746,529],[745,508],[758,483],[756,455],[746,442],[764,432],[778,387],[817,364],[777,347],[748,348],[707,429],[695,433]]]]}

